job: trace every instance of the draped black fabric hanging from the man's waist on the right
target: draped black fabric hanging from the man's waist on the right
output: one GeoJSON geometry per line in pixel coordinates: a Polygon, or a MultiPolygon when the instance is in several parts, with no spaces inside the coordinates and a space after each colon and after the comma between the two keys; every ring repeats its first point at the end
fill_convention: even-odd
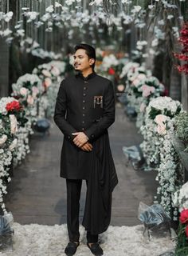
{"type": "Polygon", "coordinates": [[[108,132],[92,144],[91,173],[82,225],[92,234],[108,229],[112,212],[112,191],[118,183],[108,132]]]}

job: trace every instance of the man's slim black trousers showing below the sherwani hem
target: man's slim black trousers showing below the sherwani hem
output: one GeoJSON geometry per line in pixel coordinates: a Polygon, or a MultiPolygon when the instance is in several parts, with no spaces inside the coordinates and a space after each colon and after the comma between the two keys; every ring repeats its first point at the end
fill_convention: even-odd
{"type": "MultiPolygon", "coordinates": [[[[88,187],[88,181],[86,180],[88,187]]],[[[66,179],[67,185],[67,227],[69,241],[78,242],[79,233],[79,210],[80,210],[80,192],[82,179],[66,179]]],[[[88,242],[98,242],[98,234],[91,234],[87,231],[88,242]]]]}

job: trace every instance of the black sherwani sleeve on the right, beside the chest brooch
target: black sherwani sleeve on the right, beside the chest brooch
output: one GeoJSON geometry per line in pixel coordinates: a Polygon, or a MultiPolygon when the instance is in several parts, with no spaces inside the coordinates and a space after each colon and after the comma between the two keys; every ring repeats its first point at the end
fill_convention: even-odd
{"type": "Polygon", "coordinates": [[[88,136],[89,141],[99,138],[109,126],[115,122],[115,92],[112,82],[109,82],[103,98],[104,114],[103,117],[96,123],[93,123],[84,133],[88,136]]]}

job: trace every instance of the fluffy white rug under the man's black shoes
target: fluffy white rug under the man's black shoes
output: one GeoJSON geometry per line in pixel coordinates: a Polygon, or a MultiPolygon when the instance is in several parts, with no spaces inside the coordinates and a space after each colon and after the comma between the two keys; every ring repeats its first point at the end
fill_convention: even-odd
{"type": "MultiPolygon", "coordinates": [[[[2,256],[63,256],[68,242],[66,224],[45,226],[20,225],[14,222],[14,251],[2,256]]],[[[148,242],[142,235],[143,226],[109,226],[100,234],[104,256],[158,256],[174,247],[170,238],[155,238],[148,242]]],[[[92,256],[85,245],[84,227],[80,226],[80,246],[77,256],[92,256]]]]}

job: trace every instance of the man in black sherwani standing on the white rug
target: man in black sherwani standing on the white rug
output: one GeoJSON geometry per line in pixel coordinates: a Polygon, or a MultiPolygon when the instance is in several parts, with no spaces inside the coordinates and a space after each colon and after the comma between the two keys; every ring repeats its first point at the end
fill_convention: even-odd
{"type": "Polygon", "coordinates": [[[109,226],[112,190],[118,183],[108,139],[108,127],[115,121],[114,90],[110,80],[94,71],[92,46],[75,46],[73,57],[77,74],[61,82],[53,117],[64,134],[61,177],[66,178],[69,233],[65,254],[75,254],[80,244],[79,200],[84,179],[87,195],[82,225],[88,248],[102,255],[98,234],[109,226]]]}

